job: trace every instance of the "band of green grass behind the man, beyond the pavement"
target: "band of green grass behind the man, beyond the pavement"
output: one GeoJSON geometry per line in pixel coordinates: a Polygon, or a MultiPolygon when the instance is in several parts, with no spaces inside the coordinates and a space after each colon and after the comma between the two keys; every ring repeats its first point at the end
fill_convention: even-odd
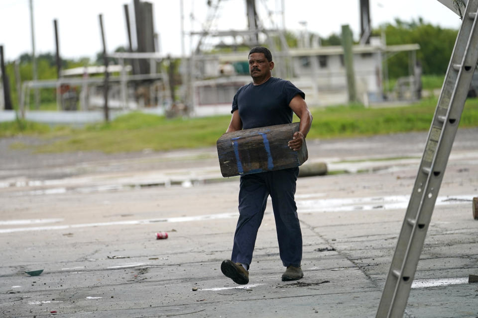
{"type": "MultiPolygon", "coordinates": [[[[314,121],[308,139],[369,136],[408,131],[428,131],[437,100],[425,99],[409,106],[364,108],[361,105],[312,109],[314,121]]],[[[35,135],[45,143],[36,152],[103,151],[135,152],[143,149],[167,151],[216,145],[226,131],[230,115],[207,118],[166,119],[130,113],[111,123],[50,128],[47,125],[15,121],[0,123],[0,137],[35,135]],[[60,138],[58,138],[60,137],[60,138]]],[[[298,119],[295,118],[294,121],[298,119]]],[[[478,98],[467,99],[460,127],[478,126],[478,98]]],[[[16,149],[24,148],[16,143],[16,149]]],[[[26,147],[26,146],[25,146],[26,147]]]]}

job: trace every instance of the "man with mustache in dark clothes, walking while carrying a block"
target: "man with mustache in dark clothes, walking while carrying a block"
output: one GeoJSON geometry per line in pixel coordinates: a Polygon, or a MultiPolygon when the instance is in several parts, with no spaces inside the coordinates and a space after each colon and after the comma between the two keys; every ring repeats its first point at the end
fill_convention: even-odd
{"type": "MultiPolygon", "coordinates": [[[[239,88],[233,99],[232,118],[227,132],[292,123],[293,112],[299,117],[299,131],[291,136],[288,147],[301,149],[312,124],[312,114],[305,103],[305,94],[290,81],[272,77],[272,55],[265,47],[249,52],[249,73],[252,82],[239,88]]],[[[304,276],[301,269],[302,233],[294,195],[298,167],[241,175],[239,188],[239,220],[234,235],[231,260],[221,264],[221,271],[238,284],[249,282],[257,231],[267,197],[274,210],[280,258],[287,268],[283,281],[304,276]]]]}

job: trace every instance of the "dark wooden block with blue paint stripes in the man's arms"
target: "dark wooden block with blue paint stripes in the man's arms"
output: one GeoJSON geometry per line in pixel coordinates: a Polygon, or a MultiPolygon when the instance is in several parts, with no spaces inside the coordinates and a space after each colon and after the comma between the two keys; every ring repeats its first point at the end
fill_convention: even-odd
{"type": "Polygon", "coordinates": [[[287,143],[299,131],[299,123],[244,129],[225,133],[217,148],[224,177],[297,167],[307,158],[304,141],[299,151],[287,143]]]}

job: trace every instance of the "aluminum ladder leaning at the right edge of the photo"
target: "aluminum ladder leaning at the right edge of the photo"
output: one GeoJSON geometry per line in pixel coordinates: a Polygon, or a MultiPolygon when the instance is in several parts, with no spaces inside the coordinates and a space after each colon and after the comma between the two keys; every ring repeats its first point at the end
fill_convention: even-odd
{"type": "Polygon", "coordinates": [[[430,127],[376,318],[402,318],[478,60],[478,0],[469,0],[430,127]]]}

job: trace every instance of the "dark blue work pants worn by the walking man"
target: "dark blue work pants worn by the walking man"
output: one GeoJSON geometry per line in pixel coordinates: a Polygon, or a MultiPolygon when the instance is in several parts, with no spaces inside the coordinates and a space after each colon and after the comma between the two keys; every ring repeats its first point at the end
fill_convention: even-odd
{"type": "Polygon", "coordinates": [[[299,168],[246,174],[240,177],[239,220],[231,260],[250,265],[267,197],[274,210],[280,259],[284,266],[300,266],[302,233],[294,195],[299,168]]]}

